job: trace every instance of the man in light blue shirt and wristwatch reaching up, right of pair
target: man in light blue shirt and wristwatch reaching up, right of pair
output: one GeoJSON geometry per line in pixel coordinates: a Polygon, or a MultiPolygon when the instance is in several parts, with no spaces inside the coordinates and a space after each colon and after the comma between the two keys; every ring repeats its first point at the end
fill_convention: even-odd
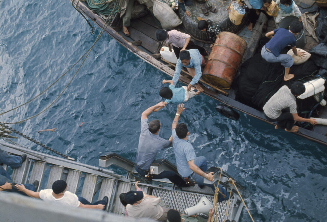
{"type": "MultiPolygon", "coordinates": [[[[196,156],[192,144],[187,141],[189,131],[186,124],[178,124],[178,120],[184,110],[184,104],[179,104],[177,106],[176,115],[171,126],[177,170],[186,181],[197,183],[200,188],[203,188],[204,185],[208,186],[215,192],[215,186],[217,186],[218,181],[216,181],[215,184],[205,184],[203,182],[204,178],[209,181],[214,180],[213,172],[205,173],[205,171],[208,170],[207,159],[204,156],[196,156]]],[[[218,187],[218,202],[227,200],[229,196],[225,188],[221,186],[221,184],[219,184],[218,187]]]]}

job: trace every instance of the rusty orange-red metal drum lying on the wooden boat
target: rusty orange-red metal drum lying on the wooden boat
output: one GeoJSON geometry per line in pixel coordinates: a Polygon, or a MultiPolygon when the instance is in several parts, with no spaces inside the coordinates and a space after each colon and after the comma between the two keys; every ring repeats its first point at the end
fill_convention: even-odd
{"type": "Polygon", "coordinates": [[[238,35],[220,32],[203,70],[202,79],[219,88],[231,88],[246,45],[245,40],[238,35]]]}

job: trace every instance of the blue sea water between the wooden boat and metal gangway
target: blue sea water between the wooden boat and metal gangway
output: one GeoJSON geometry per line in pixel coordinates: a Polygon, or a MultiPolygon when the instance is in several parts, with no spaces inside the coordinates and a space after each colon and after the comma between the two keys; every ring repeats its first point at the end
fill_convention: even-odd
{"type": "MultiPolygon", "coordinates": [[[[68,0],[1,0],[0,10],[1,112],[46,89],[100,32],[96,27],[92,34],[68,0]]],[[[0,121],[16,122],[44,110],[76,71],[31,103],[1,115],[0,121]]],[[[168,78],[104,34],[53,106],[10,126],[82,163],[97,166],[99,155],[106,152],[134,160],[141,113],[161,101],[158,91],[168,78]],[[37,132],[50,128],[57,129],[37,132]]],[[[254,220],[327,221],[326,147],[243,113],[238,121],[230,120],[215,111],[216,103],[202,94],[190,99],[180,122],[188,125],[197,155],[245,187],[242,195],[254,220]]],[[[175,111],[175,105],[168,105],[149,116],[161,121],[160,136],[171,135],[175,111]]],[[[50,153],[24,138],[14,141],[50,153]]],[[[172,147],[158,157],[176,162],[172,147]]],[[[245,209],[240,221],[251,221],[245,209]]]]}

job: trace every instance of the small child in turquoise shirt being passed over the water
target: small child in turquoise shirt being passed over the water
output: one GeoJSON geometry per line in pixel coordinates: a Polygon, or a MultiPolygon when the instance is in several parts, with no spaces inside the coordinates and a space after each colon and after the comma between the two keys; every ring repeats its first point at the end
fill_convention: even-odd
{"type": "Polygon", "coordinates": [[[190,91],[187,91],[186,86],[175,88],[173,80],[163,80],[163,84],[170,83],[168,87],[162,87],[159,91],[161,97],[165,98],[165,105],[167,103],[183,103],[189,98],[198,95],[200,91],[194,91],[194,87],[191,87],[190,91]]]}

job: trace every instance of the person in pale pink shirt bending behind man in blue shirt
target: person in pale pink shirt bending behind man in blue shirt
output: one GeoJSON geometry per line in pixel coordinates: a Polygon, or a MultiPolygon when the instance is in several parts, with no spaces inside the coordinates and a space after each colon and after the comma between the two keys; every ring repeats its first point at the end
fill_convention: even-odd
{"type": "Polygon", "coordinates": [[[187,49],[197,49],[201,55],[208,55],[207,51],[203,47],[195,45],[194,42],[190,40],[190,35],[177,30],[157,30],[156,39],[158,41],[166,41],[169,51],[172,51],[170,47],[170,45],[172,45],[176,58],[179,58],[182,50],[187,49]]]}

